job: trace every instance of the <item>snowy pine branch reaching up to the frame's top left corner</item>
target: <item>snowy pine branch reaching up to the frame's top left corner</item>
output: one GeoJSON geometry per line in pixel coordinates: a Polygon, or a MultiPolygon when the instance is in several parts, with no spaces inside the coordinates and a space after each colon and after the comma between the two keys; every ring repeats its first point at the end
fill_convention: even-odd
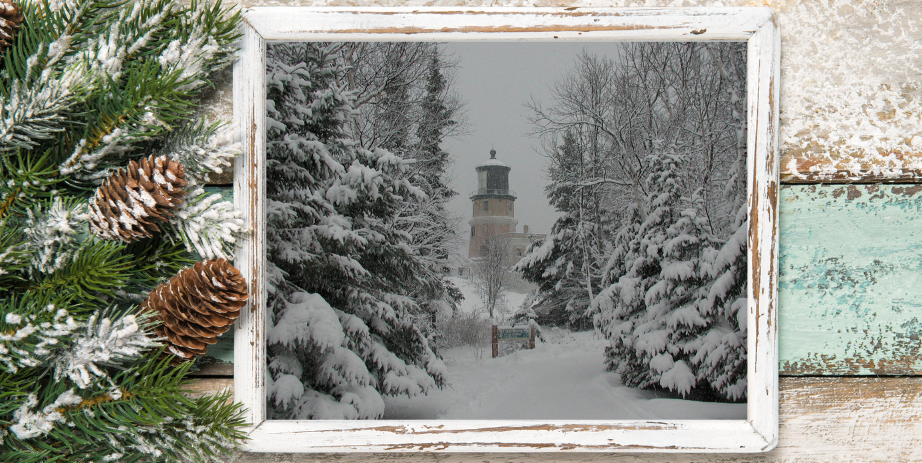
{"type": "MultiPolygon", "coordinates": [[[[150,43],[139,40],[143,43],[136,53],[144,59],[125,69],[121,68],[121,57],[133,51],[132,47],[117,48],[112,59],[118,63],[108,68],[121,74],[116,72],[116,78],[98,97],[88,99],[91,117],[83,138],[61,165],[64,175],[77,173],[85,180],[98,181],[107,175],[108,168],[123,163],[140,143],[180,126],[191,114],[197,92],[208,83],[207,76],[233,58],[233,41],[239,36],[234,25],[239,16],[225,18],[227,11],[220,3],[193,2],[179,11],[169,10],[172,4],[166,0],[147,0],[144,5],[163,8],[166,11],[162,14],[175,17],[164,22],[170,26],[164,32],[172,35],[154,34],[156,40],[150,43]],[[129,77],[118,79],[119,75],[129,77]]],[[[144,27],[137,29],[135,35],[144,27]]]]}

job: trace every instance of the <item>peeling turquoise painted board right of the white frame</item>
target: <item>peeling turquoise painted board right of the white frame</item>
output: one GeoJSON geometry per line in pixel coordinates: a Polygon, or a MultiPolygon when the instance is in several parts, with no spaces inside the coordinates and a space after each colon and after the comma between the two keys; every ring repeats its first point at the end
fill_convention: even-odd
{"type": "Polygon", "coordinates": [[[781,374],[922,372],[922,185],[781,189],[781,374]]]}

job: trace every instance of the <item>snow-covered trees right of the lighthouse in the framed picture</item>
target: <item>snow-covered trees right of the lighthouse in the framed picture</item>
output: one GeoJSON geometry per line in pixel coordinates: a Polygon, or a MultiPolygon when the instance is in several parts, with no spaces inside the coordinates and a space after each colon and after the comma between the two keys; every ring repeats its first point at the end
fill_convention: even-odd
{"type": "Polygon", "coordinates": [[[518,268],[628,386],[746,398],[745,88],[741,44],[636,43],[532,106],[562,217],[518,268]]]}

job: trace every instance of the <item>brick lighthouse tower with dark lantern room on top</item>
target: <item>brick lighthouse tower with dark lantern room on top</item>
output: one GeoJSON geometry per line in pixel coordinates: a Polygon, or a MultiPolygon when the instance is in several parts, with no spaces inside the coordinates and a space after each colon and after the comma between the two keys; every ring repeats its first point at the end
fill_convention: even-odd
{"type": "Polygon", "coordinates": [[[471,224],[471,245],[468,257],[485,256],[490,239],[494,236],[515,233],[515,192],[509,189],[509,166],[496,159],[496,150],[490,150],[490,159],[477,166],[477,190],[471,193],[474,207],[471,224]]]}

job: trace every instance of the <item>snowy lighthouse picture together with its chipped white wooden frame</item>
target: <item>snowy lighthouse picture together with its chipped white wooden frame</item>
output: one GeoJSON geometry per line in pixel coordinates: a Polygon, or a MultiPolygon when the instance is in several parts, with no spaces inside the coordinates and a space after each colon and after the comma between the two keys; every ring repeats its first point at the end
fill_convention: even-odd
{"type": "Polygon", "coordinates": [[[253,452],[778,439],[768,8],[244,11],[253,452]]]}

